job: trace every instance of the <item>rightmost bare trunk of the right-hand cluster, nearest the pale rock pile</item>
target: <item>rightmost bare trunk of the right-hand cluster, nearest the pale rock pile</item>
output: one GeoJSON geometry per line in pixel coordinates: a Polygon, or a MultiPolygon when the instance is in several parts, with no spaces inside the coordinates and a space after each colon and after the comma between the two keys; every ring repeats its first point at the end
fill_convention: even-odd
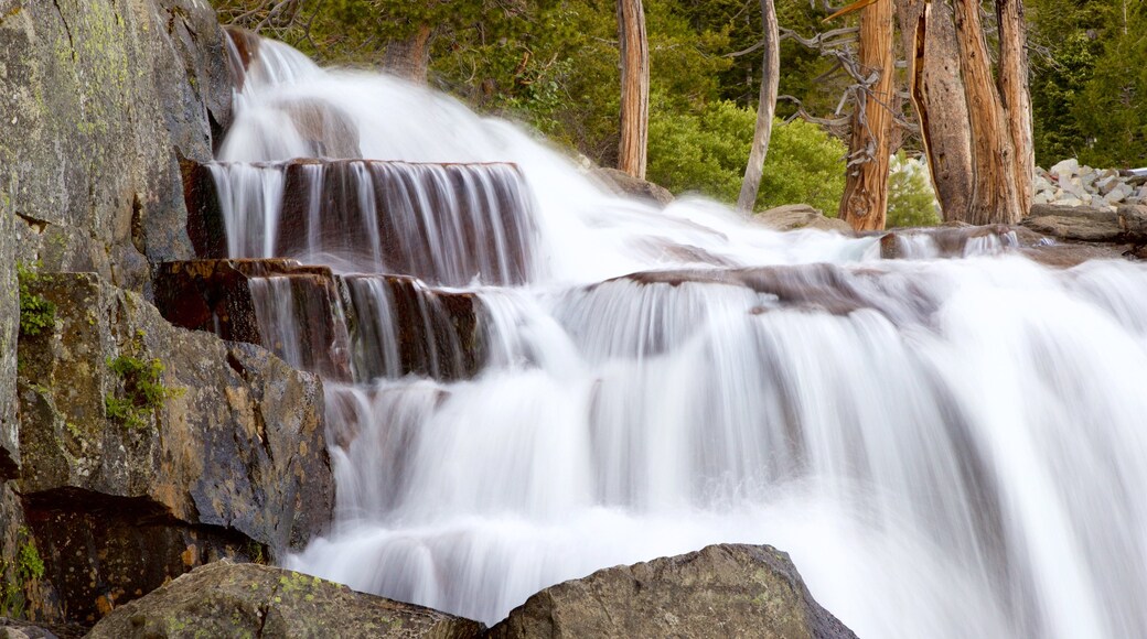
{"type": "Polygon", "coordinates": [[[1015,163],[1020,215],[1031,211],[1036,150],[1031,133],[1031,94],[1028,92],[1027,23],[1022,0],[996,0],[1000,29],[999,89],[1007,116],[1015,163]]]}

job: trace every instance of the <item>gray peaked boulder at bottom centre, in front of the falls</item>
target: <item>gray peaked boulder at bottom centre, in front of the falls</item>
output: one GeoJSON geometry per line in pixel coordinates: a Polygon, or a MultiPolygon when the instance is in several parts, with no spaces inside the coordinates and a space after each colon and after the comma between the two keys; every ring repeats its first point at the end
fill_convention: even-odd
{"type": "Polygon", "coordinates": [[[548,587],[491,629],[494,639],[855,634],[813,600],[786,553],[716,545],[599,570],[548,587]]]}

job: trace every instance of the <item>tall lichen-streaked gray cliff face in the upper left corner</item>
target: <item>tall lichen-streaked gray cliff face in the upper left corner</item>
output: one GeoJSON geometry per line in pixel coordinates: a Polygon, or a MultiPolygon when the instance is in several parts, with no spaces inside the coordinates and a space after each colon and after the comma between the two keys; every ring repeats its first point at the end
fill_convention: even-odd
{"type": "Polygon", "coordinates": [[[149,261],[190,255],[178,160],[210,159],[229,119],[224,37],[203,0],[0,0],[16,257],[142,290],[149,261]]]}

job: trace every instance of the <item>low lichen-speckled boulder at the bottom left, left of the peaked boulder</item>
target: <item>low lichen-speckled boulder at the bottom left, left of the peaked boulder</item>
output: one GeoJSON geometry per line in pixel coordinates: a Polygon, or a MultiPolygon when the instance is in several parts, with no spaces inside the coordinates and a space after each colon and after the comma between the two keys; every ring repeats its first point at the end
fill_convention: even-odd
{"type": "Polygon", "coordinates": [[[469,639],[481,623],[267,566],[203,566],[108,615],[88,637],[427,637],[469,639]]]}

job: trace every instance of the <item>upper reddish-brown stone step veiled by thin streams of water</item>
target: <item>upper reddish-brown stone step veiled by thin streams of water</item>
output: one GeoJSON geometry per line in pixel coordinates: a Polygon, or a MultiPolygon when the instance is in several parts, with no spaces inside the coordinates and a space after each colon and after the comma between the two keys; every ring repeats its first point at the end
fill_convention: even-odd
{"type": "Polygon", "coordinates": [[[533,198],[512,164],[366,159],[185,161],[201,258],[298,258],[430,284],[518,284],[533,270],[533,198]]]}

